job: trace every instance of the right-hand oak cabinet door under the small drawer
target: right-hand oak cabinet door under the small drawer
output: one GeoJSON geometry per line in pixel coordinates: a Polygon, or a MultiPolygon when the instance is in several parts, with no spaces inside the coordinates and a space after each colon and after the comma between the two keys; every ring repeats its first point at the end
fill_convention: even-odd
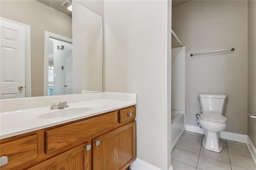
{"type": "Polygon", "coordinates": [[[135,121],[93,140],[93,169],[126,169],[136,158],[135,121]]]}

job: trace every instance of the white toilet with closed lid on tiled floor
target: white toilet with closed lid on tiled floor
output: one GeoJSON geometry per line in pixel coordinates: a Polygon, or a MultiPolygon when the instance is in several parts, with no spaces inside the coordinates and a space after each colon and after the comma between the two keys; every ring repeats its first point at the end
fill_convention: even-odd
{"type": "Polygon", "coordinates": [[[207,150],[220,152],[222,144],[219,139],[220,132],[227,126],[227,118],[223,116],[227,95],[198,95],[202,114],[198,122],[205,129],[203,146],[207,150]]]}

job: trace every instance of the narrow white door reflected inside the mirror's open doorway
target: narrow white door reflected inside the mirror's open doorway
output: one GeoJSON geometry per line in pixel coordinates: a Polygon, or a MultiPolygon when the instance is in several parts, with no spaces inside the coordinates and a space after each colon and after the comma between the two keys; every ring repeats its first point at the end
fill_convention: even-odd
{"type": "Polygon", "coordinates": [[[73,51],[67,55],[66,94],[73,94],[73,51]]]}

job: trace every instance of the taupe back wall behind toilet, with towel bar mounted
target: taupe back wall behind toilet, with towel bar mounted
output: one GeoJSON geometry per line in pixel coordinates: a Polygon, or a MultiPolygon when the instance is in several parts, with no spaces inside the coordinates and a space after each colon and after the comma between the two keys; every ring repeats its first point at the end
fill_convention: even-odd
{"type": "Polygon", "coordinates": [[[247,1],[190,1],[173,8],[172,29],[186,46],[186,124],[196,126],[199,93],[226,94],[225,131],[247,134],[247,1]]]}

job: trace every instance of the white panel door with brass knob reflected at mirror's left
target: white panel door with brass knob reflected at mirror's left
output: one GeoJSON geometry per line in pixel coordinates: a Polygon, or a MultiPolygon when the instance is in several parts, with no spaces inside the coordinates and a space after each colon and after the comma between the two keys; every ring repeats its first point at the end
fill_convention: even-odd
{"type": "Polygon", "coordinates": [[[1,19],[0,29],[0,99],[25,97],[25,27],[1,19]]]}

